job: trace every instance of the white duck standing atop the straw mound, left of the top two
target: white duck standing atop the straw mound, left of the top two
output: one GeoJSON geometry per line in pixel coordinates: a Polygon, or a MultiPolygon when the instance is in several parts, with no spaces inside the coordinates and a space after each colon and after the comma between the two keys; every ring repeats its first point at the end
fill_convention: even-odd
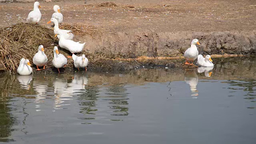
{"type": "Polygon", "coordinates": [[[32,10],[29,14],[28,14],[28,18],[27,18],[27,22],[28,23],[38,23],[41,19],[41,12],[39,10],[39,8],[41,8],[40,3],[39,2],[35,2],[34,3],[34,10],[32,10]]]}

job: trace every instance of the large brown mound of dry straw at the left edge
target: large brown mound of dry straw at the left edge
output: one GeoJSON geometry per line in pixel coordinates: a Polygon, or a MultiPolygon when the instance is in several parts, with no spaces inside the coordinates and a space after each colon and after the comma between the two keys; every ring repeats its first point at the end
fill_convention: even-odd
{"type": "Polygon", "coordinates": [[[32,62],[38,46],[43,45],[48,51],[56,41],[53,31],[36,24],[19,23],[2,29],[0,33],[0,63],[6,70],[15,72],[21,58],[32,62]]]}

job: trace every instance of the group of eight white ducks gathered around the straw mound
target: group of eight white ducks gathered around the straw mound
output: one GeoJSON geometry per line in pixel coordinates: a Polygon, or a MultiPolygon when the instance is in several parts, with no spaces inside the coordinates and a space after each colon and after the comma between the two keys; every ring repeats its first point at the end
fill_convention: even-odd
{"type": "MultiPolygon", "coordinates": [[[[34,3],[34,10],[32,10],[28,14],[27,22],[28,23],[35,23],[38,24],[38,22],[41,20],[41,12],[39,10],[40,3],[35,2],[34,3]]],[[[76,56],[74,53],[80,53],[82,52],[85,43],[81,44],[80,42],[74,42],[74,34],[72,34],[71,30],[62,30],[59,28],[59,24],[63,22],[63,15],[60,13],[60,6],[55,5],[53,7],[54,13],[52,14],[52,18],[50,19],[47,24],[53,22],[54,23],[54,37],[58,37],[59,39],[59,46],[61,48],[64,48],[72,53],[72,57],[68,56],[68,58],[73,58],[74,60],[74,66],[75,68],[85,68],[88,66],[89,60],[85,57],[83,54],[82,56],[76,56]]],[[[60,73],[59,68],[62,66],[66,66],[67,64],[67,58],[58,52],[58,47],[54,46],[53,48],[54,52],[54,58],[52,60],[52,65],[58,69],[58,72],[60,73]]],[[[40,45],[38,47],[38,52],[33,57],[33,63],[36,65],[37,70],[39,67],[44,66],[43,69],[45,69],[45,65],[48,62],[48,58],[46,54],[44,54],[44,46],[40,45]]],[[[28,59],[22,58],[20,60],[20,65],[18,66],[17,73],[20,75],[29,75],[31,74],[32,68],[31,64],[28,59]]]]}

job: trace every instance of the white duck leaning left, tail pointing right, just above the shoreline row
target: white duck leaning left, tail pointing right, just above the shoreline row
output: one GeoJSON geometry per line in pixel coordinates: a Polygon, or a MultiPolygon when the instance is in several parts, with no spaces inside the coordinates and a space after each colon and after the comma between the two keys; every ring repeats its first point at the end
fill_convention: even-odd
{"type": "MultiPolygon", "coordinates": [[[[59,30],[57,30],[57,34],[60,34],[59,30]]],[[[55,37],[57,36],[57,34],[55,35],[55,37]]],[[[83,44],[80,44],[80,42],[74,42],[73,40],[66,40],[64,35],[60,35],[59,46],[61,48],[64,48],[70,51],[72,54],[82,52],[84,45],[85,45],[85,42],[83,44]]],[[[68,58],[71,58],[71,56],[68,56],[68,58]]]]}

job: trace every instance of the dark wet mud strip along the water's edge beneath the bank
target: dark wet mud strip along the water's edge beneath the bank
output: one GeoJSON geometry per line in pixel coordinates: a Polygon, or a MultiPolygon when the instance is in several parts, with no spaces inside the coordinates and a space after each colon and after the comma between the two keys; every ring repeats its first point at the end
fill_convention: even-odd
{"type": "MultiPolygon", "coordinates": [[[[214,67],[216,64],[225,65],[230,62],[235,62],[240,65],[247,62],[248,64],[254,64],[255,57],[251,56],[236,56],[236,57],[220,57],[220,56],[213,56],[214,67]]],[[[196,62],[194,62],[195,64],[196,62]]],[[[54,68],[50,65],[51,62],[48,62],[46,65],[46,69],[36,71],[36,66],[32,66],[34,74],[54,74],[58,73],[57,68],[54,68]]],[[[110,73],[129,73],[132,70],[137,69],[154,69],[154,68],[164,68],[166,71],[172,69],[197,69],[198,66],[190,66],[184,64],[184,59],[182,58],[173,58],[173,59],[126,59],[126,60],[106,60],[102,63],[98,64],[91,64],[89,62],[87,72],[95,72],[95,73],[102,73],[102,72],[110,72],[110,73]]],[[[80,71],[85,72],[85,68],[81,68],[80,71]]],[[[77,68],[74,68],[73,64],[70,67],[60,68],[60,74],[69,74],[73,72],[78,72],[77,68]]],[[[0,73],[9,73],[8,71],[1,70],[0,73]]]]}

